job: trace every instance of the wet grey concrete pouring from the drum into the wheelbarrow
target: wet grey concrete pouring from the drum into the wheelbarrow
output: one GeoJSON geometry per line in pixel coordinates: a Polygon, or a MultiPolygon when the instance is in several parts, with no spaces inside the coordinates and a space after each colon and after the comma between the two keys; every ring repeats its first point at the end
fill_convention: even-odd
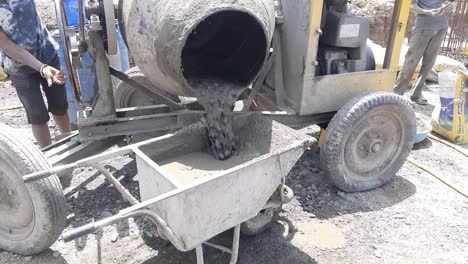
{"type": "Polygon", "coordinates": [[[229,159],[238,145],[232,130],[234,105],[245,85],[212,79],[192,79],[188,83],[206,110],[202,122],[208,129],[211,153],[219,160],[229,159]]]}

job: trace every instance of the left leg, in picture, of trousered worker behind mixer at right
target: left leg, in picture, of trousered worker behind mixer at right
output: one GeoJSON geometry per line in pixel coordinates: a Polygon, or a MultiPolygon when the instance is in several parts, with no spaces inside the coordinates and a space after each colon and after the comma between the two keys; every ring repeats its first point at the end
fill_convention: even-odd
{"type": "Polygon", "coordinates": [[[426,49],[433,33],[431,30],[415,30],[411,41],[409,43],[409,49],[406,53],[405,64],[403,69],[400,71],[398,79],[395,84],[394,91],[399,95],[403,95],[406,90],[409,89],[409,84],[413,78],[416,67],[421,60],[424,50],[426,49]]]}

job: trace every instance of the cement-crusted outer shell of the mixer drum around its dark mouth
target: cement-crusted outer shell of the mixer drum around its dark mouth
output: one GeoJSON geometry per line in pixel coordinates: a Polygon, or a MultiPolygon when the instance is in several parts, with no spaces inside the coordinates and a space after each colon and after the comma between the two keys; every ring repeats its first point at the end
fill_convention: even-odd
{"type": "Polygon", "coordinates": [[[132,57],[148,79],[167,92],[193,95],[183,75],[183,48],[200,22],[223,11],[255,18],[268,54],[275,26],[273,0],[120,0],[119,19],[132,57]]]}

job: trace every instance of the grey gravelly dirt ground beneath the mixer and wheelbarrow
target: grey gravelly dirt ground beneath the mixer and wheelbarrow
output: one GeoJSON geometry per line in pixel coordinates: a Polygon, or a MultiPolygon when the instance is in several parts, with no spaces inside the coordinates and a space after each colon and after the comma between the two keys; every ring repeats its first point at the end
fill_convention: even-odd
{"type": "MultiPolygon", "coordinates": [[[[429,86],[436,89],[437,86],[429,86]]],[[[430,90],[426,96],[434,103],[430,90]]],[[[19,103],[14,89],[0,84],[0,107],[19,103]]],[[[417,109],[430,113],[432,107],[417,109]]],[[[6,123],[32,140],[23,109],[0,112],[6,123]]],[[[52,124],[51,128],[55,127],[52,124]]],[[[54,130],[55,131],[55,130],[54,130]]],[[[317,136],[316,126],[304,131],[317,136]]],[[[467,158],[435,141],[415,146],[411,155],[468,189],[467,158]]],[[[107,164],[132,193],[138,193],[136,164],[121,157],[107,164]]],[[[129,206],[92,169],[75,170],[62,179],[68,227],[78,227],[129,206]]],[[[280,220],[256,237],[241,239],[239,263],[468,263],[468,203],[429,174],[406,164],[388,185],[347,194],[327,181],[312,147],[288,176],[296,194],[280,220]]],[[[230,233],[217,238],[229,244],[230,233]]],[[[229,256],[207,249],[207,263],[227,263],[229,256]]],[[[158,238],[143,220],[129,220],[74,241],[58,241],[37,256],[0,251],[0,263],[194,263],[195,253],[180,253],[158,238]]]]}

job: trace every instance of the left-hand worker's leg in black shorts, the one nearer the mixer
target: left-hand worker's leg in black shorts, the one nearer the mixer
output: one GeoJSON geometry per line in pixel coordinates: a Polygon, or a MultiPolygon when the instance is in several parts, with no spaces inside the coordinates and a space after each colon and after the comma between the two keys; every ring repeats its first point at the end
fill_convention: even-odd
{"type": "MultiPolygon", "coordinates": [[[[58,57],[54,58],[50,66],[60,69],[58,57]]],[[[49,87],[47,80],[41,80],[42,89],[47,97],[49,112],[62,134],[70,133],[70,117],[68,116],[68,100],[65,85],[53,84],[49,87]]]]}

